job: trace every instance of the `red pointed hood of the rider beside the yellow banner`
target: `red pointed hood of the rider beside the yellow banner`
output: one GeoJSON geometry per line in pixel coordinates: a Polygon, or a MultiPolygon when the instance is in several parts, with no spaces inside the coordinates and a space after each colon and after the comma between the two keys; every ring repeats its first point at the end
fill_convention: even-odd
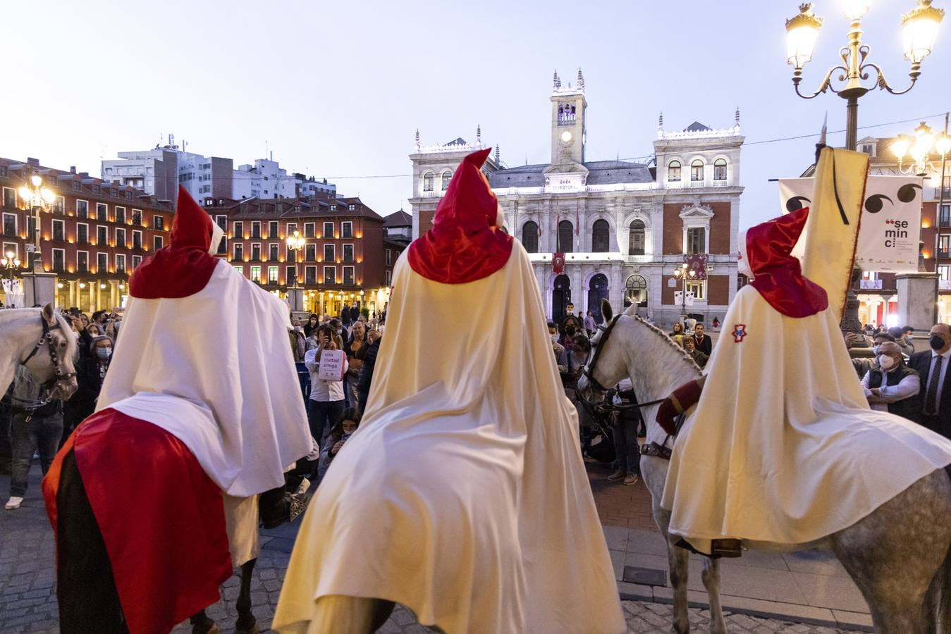
{"type": "Polygon", "coordinates": [[[786,317],[809,317],[828,307],[825,289],[803,277],[799,259],[792,256],[808,217],[805,207],[747,231],[749,284],[786,317]]]}

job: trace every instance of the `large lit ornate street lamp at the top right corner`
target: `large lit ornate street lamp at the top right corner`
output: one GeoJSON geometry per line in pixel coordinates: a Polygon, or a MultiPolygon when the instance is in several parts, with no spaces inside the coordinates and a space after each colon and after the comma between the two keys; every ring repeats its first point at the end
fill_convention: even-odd
{"type": "Polygon", "coordinates": [[[874,86],[863,86],[862,82],[869,77],[869,69],[875,71],[875,86],[887,90],[894,95],[908,92],[919,75],[922,74],[922,60],[934,47],[938,34],[938,26],[944,17],[944,10],[931,6],[932,0],[918,0],[918,6],[902,15],[902,33],[904,43],[904,58],[911,62],[911,84],[903,90],[895,90],[885,79],[883,70],[877,64],[866,62],[871,48],[862,43],[862,16],[868,10],[868,3],[861,0],[847,0],[845,2],[845,17],[851,22],[848,30],[848,45],[839,50],[843,64],[828,69],[819,89],[812,94],[800,92],[799,83],[803,80],[803,67],[812,59],[816,41],[819,39],[819,30],[823,26],[823,18],[812,11],[812,4],[800,5],[799,14],[786,20],[786,62],[794,68],[792,84],[796,94],[804,99],[813,99],[826,90],[838,94],[846,100],[845,147],[854,150],[856,147],[859,124],[859,98],[874,86]],[[832,74],[839,70],[838,82],[845,85],[839,88],[832,86],[832,74]]]}

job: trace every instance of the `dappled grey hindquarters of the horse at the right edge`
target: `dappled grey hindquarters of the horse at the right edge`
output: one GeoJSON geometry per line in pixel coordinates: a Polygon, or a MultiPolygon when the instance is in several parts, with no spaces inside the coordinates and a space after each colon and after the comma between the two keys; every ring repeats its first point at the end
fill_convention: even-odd
{"type": "Polygon", "coordinates": [[[855,525],[831,536],[832,550],[862,591],[881,634],[924,634],[929,588],[951,548],[951,482],[943,470],[923,477],[855,525]],[[943,518],[943,519],[942,519],[943,518]]]}

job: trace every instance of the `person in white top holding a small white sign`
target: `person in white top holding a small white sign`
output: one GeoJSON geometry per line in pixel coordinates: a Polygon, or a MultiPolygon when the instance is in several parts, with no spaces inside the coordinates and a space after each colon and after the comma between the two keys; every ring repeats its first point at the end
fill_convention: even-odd
{"type": "Polygon", "coordinates": [[[340,337],[329,325],[317,332],[318,347],[307,351],[303,363],[310,372],[310,403],[307,422],[310,433],[323,446],[323,432],[340,420],[343,413],[343,377],[347,374],[347,357],[340,350],[340,337]]]}

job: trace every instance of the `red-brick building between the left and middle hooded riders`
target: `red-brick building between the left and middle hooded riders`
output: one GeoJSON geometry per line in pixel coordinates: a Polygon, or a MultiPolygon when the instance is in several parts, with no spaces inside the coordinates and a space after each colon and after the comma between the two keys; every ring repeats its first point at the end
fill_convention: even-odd
{"type": "Polygon", "coordinates": [[[281,298],[296,280],[302,310],[338,315],[343,304],[357,303],[374,313],[389,300],[403,245],[386,239],[384,220],[359,198],[204,202],[224,230],[219,256],[281,298]],[[304,239],[299,251],[286,242],[295,230],[304,239]]]}

